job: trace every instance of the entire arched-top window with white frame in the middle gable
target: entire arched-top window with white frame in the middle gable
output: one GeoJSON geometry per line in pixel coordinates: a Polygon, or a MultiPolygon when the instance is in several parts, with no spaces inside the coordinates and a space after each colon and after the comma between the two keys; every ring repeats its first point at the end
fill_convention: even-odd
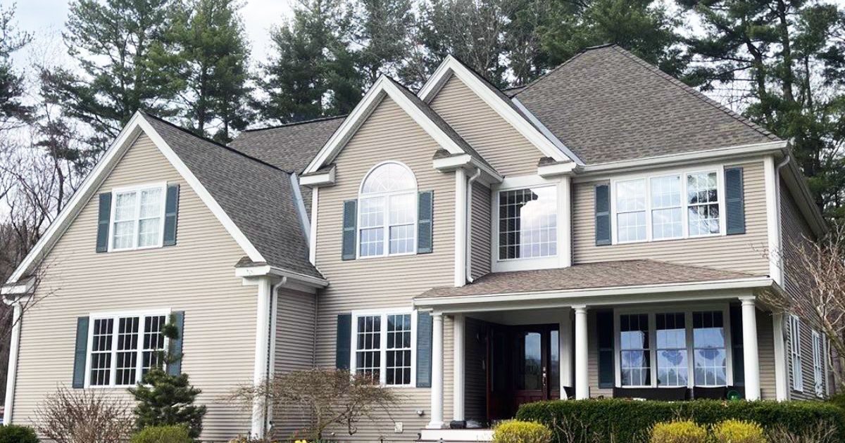
{"type": "Polygon", "coordinates": [[[397,162],[376,165],[358,194],[358,257],[412,254],[417,247],[417,179],[397,162]]]}

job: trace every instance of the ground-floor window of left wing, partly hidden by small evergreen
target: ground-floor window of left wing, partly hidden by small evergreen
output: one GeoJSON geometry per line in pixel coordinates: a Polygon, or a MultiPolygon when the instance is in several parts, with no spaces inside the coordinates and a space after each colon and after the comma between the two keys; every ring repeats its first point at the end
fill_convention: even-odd
{"type": "Polygon", "coordinates": [[[92,315],[88,386],[132,386],[160,366],[166,320],[166,312],[92,315]]]}

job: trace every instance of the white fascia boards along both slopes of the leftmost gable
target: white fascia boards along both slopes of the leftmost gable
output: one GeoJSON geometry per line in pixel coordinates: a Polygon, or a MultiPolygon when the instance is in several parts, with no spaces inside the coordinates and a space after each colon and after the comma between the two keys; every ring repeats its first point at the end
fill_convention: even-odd
{"type": "Polygon", "coordinates": [[[190,185],[191,188],[194,189],[194,192],[199,195],[203,203],[211,209],[211,212],[215,214],[217,219],[221,221],[221,224],[223,224],[226,230],[229,231],[232,237],[234,237],[237,241],[238,245],[240,245],[247,253],[250,260],[253,260],[254,262],[264,262],[264,258],[261,256],[259,251],[255,249],[249,240],[247,240],[246,236],[243,235],[243,232],[237,228],[234,222],[232,222],[232,219],[226,215],[220,205],[215,202],[210,193],[199,182],[197,177],[194,176],[194,173],[188,170],[188,167],[183,163],[182,159],[179,159],[177,154],[174,153],[173,150],[167,146],[167,143],[164,142],[161,136],[155,132],[155,130],[150,126],[150,123],[144,118],[144,114],[141,112],[135,112],[134,116],[129,119],[129,122],[117,135],[117,138],[112,145],[106,149],[106,152],[103,154],[100,161],[98,161],[94,166],[94,169],[91,170],[88,176],[85,177],[85,180],[82,182],[82,186],[79,186],[79,190],[74,193],[74,196],[71,197],[62,212],[59,213],[53,223],[50,224],[44,235],[41,236],[41,239],[35,243],[32,250],[26,255],[26,257],[24,257],[24,260],[20,262],[19,266],[15,268],[14,273],[12,273],[12,275],[8,278],[8,283],[14,284],[17,282],[35,262],[40,260],[41,257],[43,257],[43,255],[52,248],[52,245],[55,244],[58,237],[68,229],[68,226],[85,206],[85,203],[90,200],[90,197],[92,197],[93,193],[96,192],[97,188],[103,181],[106,180],[108,174],[112,172],[114,167],[117,165],[117,162],[123,158],[123,154],[130,146],[132,146],[141,132],[145,132],[146,135],[150,137],[150,140],[153,141],[156,148],[161,151],[161,154],[164,154],[173,167],[183,176],[185,181],[188,182],[188,185],[190,185]]]}

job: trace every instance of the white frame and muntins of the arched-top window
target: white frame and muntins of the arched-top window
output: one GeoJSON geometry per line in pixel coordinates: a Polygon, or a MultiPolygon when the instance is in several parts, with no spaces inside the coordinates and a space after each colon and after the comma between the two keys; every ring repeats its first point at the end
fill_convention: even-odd
{"type": "MultiPolygon", "coordinates": [[[[411,168],[409,168],[408,165],[405,165],[401,161],[388,160],[388,161],[380,162],[379,164],[374,165],[372,168],[370,168],[370,170],[368,170],[368,172],[367,172],[367,175],[365,175],[363,180],[361,181],[361,184],[358,185],[357,211],[356,211],[356,214],[355,214],[355,217],[356,217],[356,219],[355,219],[355,257],[357,259],[366,260],[368,258],[379,258],[379,257],[388,257],[388,256],[399,257],[399,256],[416,255],[417,254],[417,231],[418,231],[417,226],[419,224],[419,214],[418,214],[419,209],[418,208],[419,208],[419,183],[417,182],[417,175],[414,174],[414,171],[411,168]],[[373,174],[374,170],[379,169],[379,166],[388,165],[388,164],[400,165],[401,167],[405,168],[408,171],[408,173],[411,174],[411,176],[413,178],[414,188],[409,189],[409,190],[403,190],[403,191],[369,192],[367,194],[364,194],[363,193],[364,182],[366,182],[367,179],[369,178],[369,176],[371,176],[373,174]],[[396,252],[394,254],[391,254],[390,253],[390,197],[412,195],[412,194],[413,194],[413,201],[414,201],[413,210],[412,210],[413,218],[414,218],[412,251],[396,252]],[[379,254],[379,255],[373,255],[373,256],[362,256],[361,255],[361,231],[363,229],[370,230],[370,229],[373,229],[373,228],[378,228],[379,226],[368,226],[367,228],[361,227],[361,207],[362,207],[361,201],[367,200],[367,199],[370,199],[370,198],[375,198],[375,197],[384,198],[384,223],[381,224],[381,226],[380,226],[381,229],[383,230],[383,233],[384,233],[384,239],[382,240],[383,241],[382,253],[379,254]]],[[[397,224],[397,226],[399,226],[399,225],[400,224],[397,224]]],[[[403,223],[401,225],[406,225],[406,223],[403,223]]]]}

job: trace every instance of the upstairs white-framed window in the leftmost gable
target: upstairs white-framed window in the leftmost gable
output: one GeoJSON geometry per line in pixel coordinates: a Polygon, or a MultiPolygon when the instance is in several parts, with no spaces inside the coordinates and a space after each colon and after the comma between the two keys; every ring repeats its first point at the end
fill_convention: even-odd
{"type": "Polygon", "coordinates": [[[111,250],[160,247],[164,231],[166,184],[112,192],[111,250]]]}

